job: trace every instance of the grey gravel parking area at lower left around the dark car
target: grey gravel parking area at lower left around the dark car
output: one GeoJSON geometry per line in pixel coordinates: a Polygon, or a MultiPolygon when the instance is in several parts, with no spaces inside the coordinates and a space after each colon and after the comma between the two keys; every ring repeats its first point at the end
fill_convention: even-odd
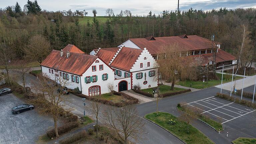
{"type": "Polygon", "coordinates": [[[54,123],[51,117],[41,116],[35,109],[12,114],[11,108],[24,102],[7,94],[0,96],[0,144],[34,144],[54,123]]]}

